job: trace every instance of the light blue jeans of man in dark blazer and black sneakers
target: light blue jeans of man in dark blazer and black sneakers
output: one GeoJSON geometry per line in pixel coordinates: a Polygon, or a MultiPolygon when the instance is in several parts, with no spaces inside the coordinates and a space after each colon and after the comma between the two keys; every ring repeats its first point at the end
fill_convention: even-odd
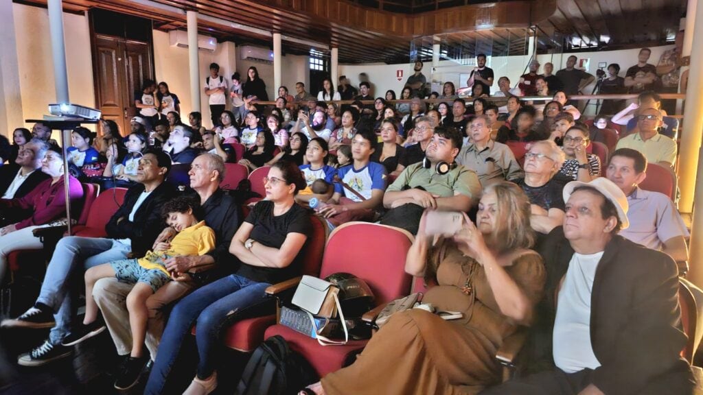
{"type": "Polygon", "coordinates": [[[74,302],[82,284],[81,277],[87,268],[126,259],[131,247],[107,238],[82,238],[69,236],[59,240],[46,268],[44,283],[37,302],[54,311],[56,325],[51,328],[49,341],[60,344],[71,328],[74,302]]]}

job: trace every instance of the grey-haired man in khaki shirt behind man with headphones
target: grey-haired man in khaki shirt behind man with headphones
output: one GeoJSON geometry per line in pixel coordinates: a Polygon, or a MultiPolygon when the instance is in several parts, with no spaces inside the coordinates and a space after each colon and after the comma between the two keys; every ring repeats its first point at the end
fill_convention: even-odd
{"type": "Polygon", "coordinates": [[[491,140],[486,115],[475,117],[469,126],[472,143],[463,146],[456,162],[473,170],[482,186],[503,180],[522,179],[524,173],[508,145],[491,140]]]}

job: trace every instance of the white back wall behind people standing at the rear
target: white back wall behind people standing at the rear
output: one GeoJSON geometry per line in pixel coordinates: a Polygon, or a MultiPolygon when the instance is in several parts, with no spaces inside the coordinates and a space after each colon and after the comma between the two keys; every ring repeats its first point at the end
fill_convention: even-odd
{"type": "MultiPolygon", "coordinates": [[[[657,46],[652,47],[652,56],[650,57],[649,63],[654,65],[659,61],[659,57],[662,53],[669,48],[673,48],[673,45],[669,46],[657,46]]],[[[625,77],[625,72],[628,67],[635,65],[637,63],[637,55],[639,53],[639,48],[625,49],[621,51],[598,51],[598,52],[584,52],[584,53],[574,53],[579,60],[582,58],[590,59],[590,64],[588,72],[595,75],[595,70],[598,69],[599,62],[618,63],[620,65],[620,75],[625,77]]],[[[566,65],[567,57],[572,55],[571,53],[557,54],[557,55],[540,55],[537,57],[539,63],[544,65],[544,63],[552,62],[554,63],[555,72],[566,65]]],[[[506,76],[510,78],[510,82],[515,86],[520,79],[520,75],[524,74],[525,67],[529,62],[529,56],[501,56],[489,58],[488,66],[494,70],[495,83],[491,87],[492,91],[498,90],[498,77],[506,76]]],[[[451,81],[458,88],[459,86],[465,86],[466,82],[460,83],[459,75],[460,73],[470,72],[473,66],[458,65],[451,60],[442,60],[437,67],[436,72],[432,74],[432,65],[430,62],[425,63],[423,68],[423,74],[425,77],[430,79],[432,76],[433,82],[444,84],[444,82],[451,81]]],[[[540,73],[542,72],[540,68],[540,73]]],[[[372,95],[375,97],[385,96],[388,89],[393,89],[396,92],[396,96],[399,96],[403,86],[405,85],[406,79],[409,75],[413,74],[413,65],[407,63],[386,65],[385,63],[370,63],[364,65],[340,65],[339,74],[346,75],[352,82],[352,85],[359,86],[359,73],[366,72],[370,82],[373,86],[372,95]],[[404,75],[401,81],[396,78],[396,70],[403,70],[404,75]]],[[[586,87],[586,92],[591,93],[593,86],[586,87]]],[[[439,91],[441,93],[441,91],[439,91]]]]}

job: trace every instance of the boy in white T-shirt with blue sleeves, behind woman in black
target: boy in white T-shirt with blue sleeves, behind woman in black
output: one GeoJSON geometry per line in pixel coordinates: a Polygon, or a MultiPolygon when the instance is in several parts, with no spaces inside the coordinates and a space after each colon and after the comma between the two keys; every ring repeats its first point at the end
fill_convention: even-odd
{"type": "Polygon", "coordinates": [[[377,138],[373,131],[362,129],[352,139],[352,164],[340,167],[335,179],[335,193],[316,212],[324,216],[331,227],[349,221],[371,221],[375,209],[383,200],[386,169],[371,162],[377,138]]]}

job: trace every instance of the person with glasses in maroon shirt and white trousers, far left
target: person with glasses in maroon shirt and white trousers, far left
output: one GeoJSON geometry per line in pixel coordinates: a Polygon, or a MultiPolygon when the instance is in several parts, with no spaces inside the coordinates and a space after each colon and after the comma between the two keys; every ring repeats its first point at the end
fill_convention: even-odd
{"type": "MultiPolygon", "coordinates": [[[[46,148],[44,148],[46,150],[46,148]]],[[[0,199],[0,215],[4,219],[18,220],[0,228],[0,282],[5,274],[7,257],[15,250],[41,250],[44,244],[34,236],[36,228],[49,226],[52,221],[65,218],[63,155],[61,148],[51,146],[41,160],[41,171],[51,178],[42,181],[27,195],[18,199],[0,199]],[[20,220],[21,219],[21,220],[20,220]]],[[[81,183],[68,177],[68,196],[75,205],[83,197],[81,183]]],[[[78,213],[73,212],[77,217],[78,213]]]]}

